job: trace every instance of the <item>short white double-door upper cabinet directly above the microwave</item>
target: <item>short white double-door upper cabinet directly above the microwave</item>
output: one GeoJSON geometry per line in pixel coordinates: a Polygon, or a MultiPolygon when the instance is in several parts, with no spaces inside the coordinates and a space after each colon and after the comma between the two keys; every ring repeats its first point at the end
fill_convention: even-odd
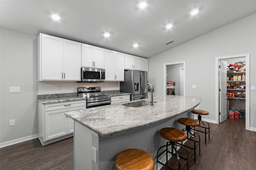
{"type": "Polygon", "coordinates": [[[82,67],[95,67],[104,69],[104,48],[82,44],[82,67]]]}

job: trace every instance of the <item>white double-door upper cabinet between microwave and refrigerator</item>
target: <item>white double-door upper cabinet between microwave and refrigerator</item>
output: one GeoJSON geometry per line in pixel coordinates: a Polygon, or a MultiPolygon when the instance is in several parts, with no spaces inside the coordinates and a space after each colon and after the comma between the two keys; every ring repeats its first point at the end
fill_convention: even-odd
{"type": "Polygon", "coordinates": [[[124,81],[124,53],[105,49],[106,81],[124,81]]]}

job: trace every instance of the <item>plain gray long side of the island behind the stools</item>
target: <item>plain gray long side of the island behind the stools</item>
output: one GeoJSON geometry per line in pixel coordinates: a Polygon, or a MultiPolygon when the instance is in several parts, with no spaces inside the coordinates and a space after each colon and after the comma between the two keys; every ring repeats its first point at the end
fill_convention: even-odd
{"type": "MultiPolygon", "coordinates": [[[[114,134],[108,137],[99,138],[99,156],[98,170],[115,170],[116,155],[122,150],[128,148],[139,148],[148,152],[154,159],[156,169],[156,152],[158,148],[166,144],[167,140],[161,138],[159,130],[164,127],[185,128],[180,125],[177,119],[181,117],[191,118],[190,111],[176,115],[166,121],[161,121],[153,125],[142,127],[135,130],[130,130],[121,134],[114,134]]],[[[168,156],[169,158],[171,156],[168,156]]],[[[165,160],[165,154],[161,159],[165,160]]],[[[158,169],[160,169],[158,164],[158,169]]]]}

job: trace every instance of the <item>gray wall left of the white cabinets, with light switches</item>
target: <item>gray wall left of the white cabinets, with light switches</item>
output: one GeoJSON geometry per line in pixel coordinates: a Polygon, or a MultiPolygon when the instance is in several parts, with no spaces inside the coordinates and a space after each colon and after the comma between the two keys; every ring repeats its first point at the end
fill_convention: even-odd
{"type": "Polygon", "coordinates": [[[37,37],[1,29],[1,139],[6,142],[38,134],[37,37]],[[9,93],[20,86],[21,93],[9,93]],[[9,120],[15,126],[9,127],[9,120]]]}

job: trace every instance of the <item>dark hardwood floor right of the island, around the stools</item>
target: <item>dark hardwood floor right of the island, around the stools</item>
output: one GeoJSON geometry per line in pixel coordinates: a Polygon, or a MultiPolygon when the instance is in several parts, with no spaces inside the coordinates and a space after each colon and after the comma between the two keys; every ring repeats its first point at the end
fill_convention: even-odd
{"type": "MultiPolygon", "coordinates": [[[[193,150],[187,149],[190,170],[256,170],[256,132],[245,129],[245,118],[209,124],[212,140],[207,138],[208,145],[204,144],[204,134],[198,132],[202,155],[198,154],[197,148],[197,164],[194,164],[193,150]]],[[[192,146],[192,142],[188,145],[192,146]]],[[[182,150],[180,152],[184,153],[182,150]]],[[[176,160],[175,157],[171,158],[168,165],[178,169],[176,160]]],[[[186,166],[183,169],[185,170],[186,166]]]]}

